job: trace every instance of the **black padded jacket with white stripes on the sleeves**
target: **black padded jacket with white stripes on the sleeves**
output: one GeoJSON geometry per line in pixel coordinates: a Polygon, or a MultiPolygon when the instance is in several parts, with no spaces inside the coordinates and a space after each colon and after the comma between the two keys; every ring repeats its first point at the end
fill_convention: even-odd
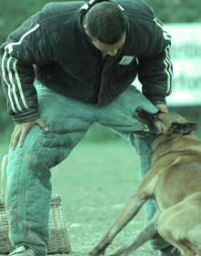
{"type": "Polygon", "coordinates": [[[138,78],[154,104],[170,92],[170,36],[141,0],[117,1],[126,12],[125,46],[103,60],[85,34],[84,2],[50,3],[1,46],[2,81],[15,121],[38,117],[35,77],[67,97],[103,106],[138,78]]]}

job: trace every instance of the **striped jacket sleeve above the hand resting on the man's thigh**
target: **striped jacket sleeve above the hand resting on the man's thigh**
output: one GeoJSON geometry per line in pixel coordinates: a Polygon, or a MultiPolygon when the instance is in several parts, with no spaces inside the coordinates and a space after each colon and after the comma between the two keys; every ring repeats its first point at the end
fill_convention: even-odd
{"type": "Polygon", "coordinates": [[[0,50],[1,79],[9,114],[18,122],[37,118],[34,65],[43,66],[49,61],[37,14],[8,36],[0,50]]]}

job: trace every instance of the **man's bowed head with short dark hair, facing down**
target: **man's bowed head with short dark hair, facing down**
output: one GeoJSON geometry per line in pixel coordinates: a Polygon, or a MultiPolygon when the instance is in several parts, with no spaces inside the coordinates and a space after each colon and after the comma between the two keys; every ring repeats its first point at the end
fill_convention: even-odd
{"type": "Polygon", "coordinates": [[[84,26],[93,45],[110,56],[116,56],[126,41],[126,18],[115,3],[104,1],[90,7],[84,26]]]}

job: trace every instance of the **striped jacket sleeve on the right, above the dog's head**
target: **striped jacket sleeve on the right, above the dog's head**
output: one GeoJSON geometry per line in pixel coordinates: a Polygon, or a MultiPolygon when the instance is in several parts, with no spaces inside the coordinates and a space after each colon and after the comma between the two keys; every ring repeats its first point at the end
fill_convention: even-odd
{"type": "Polygon", "coordinates": [[[171,36],[163,30],[160,21],[156,18],[154,21],[152,44],[147,46],[146,56],[138,58],[138,78],[143,94],[157,105],[166,104],[166,96],[171,93],[173,67],[170,58],[171,36]]]}

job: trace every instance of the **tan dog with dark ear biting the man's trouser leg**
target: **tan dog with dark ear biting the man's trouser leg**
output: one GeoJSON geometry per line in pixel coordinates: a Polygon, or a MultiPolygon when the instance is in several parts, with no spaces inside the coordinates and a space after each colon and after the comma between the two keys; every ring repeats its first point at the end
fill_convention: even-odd
{"type": "Polygon", "coordinates": [[[196,125],[176,114],[159,114],[156,127],[161,134],[152,145],[151,169],[88,255],[105,255],[116,234],[136,216],[146,200],[154,199],[158,209],[154,219],[129,247],[112,255],[130,255],[158,232],[182,256],[201,256],[201,141],[191,132],[196,125]]]}

